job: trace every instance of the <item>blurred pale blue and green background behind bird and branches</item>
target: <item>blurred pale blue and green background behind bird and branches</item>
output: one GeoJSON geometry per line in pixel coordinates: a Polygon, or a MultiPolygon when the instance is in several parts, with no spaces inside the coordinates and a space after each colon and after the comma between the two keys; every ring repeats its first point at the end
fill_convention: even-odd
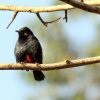
{"type": "MultiPolygon", "coordinates": [[[[51,6],[58,0],[0,0],[3,5],[51,6]]],[[[18,13],[9,29],[12,11],[0,11],[0,63],[15,63],[16,29],[29,27],[41,42],[43,62],[54,63],[100,54],[100,15],[79,9],[40,13],[45,21],[61,17],[45,27],[34,13],[18,13]]],[[[0,71],[0,100],[100,100],[100,64],[78,68],[44,71],[42,82],[34,80],[32,72],[0,71]]]]}

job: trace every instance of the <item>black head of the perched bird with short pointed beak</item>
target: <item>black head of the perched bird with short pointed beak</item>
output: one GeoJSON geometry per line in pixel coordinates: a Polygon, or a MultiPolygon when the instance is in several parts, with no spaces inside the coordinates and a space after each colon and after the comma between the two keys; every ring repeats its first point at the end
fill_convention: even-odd
{"type": "Polygon", "coordinates": [[[20,28],[19,30],[16,30],[16,32],[19,33],[19,37],[28,37],[28,36],[33,36],[33,33],[32,31],[28,28],[28,27],[23,27],[23,28],[20,28]]]}

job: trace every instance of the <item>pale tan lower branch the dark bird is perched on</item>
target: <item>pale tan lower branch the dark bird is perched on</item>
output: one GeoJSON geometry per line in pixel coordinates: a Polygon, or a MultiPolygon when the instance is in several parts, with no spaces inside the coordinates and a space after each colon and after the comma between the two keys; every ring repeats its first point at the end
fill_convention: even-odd
{"type": "Polygon", "coordinates": [[[78,60],[66,60],[64,62],[52,63],[52,64],[29,64],[29,63],[17,63],[17,64],[0,64],[0,70],[58,70],[64,68],[80,67],[84,65],[100,63],[100,56],[90,57],[78,60]]]}

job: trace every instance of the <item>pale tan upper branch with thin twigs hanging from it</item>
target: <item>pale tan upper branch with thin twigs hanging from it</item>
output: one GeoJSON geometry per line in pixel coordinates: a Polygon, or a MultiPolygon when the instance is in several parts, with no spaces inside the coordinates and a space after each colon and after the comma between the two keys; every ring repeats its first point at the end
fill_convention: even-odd
{"type": "MultiPolygon", "coordinates": [[[[65,1],[65,0],[62,0],[62,1],[65,1]]],[[[68,0],[66,0],[66,1],[68,1],[68,0]]],[[[81,2],[79,2],[79,3],[81,3],[81,2]]],[[[88,0],[88,1],[84,1],[84,3],[91,5],[91,6],[100,5],[100,1],[98,1],[98,0],[90,0],[90,1],[88,0]]],[[[82,7],[84,6],[83,3],[81,3],[81,5],[82,5],[82,7]]],[[[74,5],[74,6],[77,7],[76,5],[74,5]]],[[[54,12],[54,11],[67,10],[67,9],[72,9],[75,7],[73,7],[69,4],[49,6],[49,7],[21,7],[21,6],[11,6],[11,5],[0,5],[0,10],[39,13],[39,12],[54,12]]],[[[78,7],[78,8],[80,8],[80,7],[78,7]]],[[[100,14],[100,8],[96,7],[96,9],[97,9],[97,12],[96,11],[91,11],[91,12],[100,14]]],[[[83,10],[87,11],[87,9],[83,9],[83,10]]]]}

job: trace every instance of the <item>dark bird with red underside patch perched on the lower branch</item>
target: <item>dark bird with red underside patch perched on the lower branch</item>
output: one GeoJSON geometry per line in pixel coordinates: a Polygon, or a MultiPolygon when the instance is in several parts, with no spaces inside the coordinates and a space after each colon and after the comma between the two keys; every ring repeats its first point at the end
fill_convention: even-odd
{"type": "MultiPolygon", "coordinates": [[[[16,32],[19,34],[14,51],[16,62],[42,64],[42,47],[33,32],[27,27],[16,30],[16,32]]],[[[42,71],[33,71],[33,75],[37,81],[45,78],[42,71]]]]}

